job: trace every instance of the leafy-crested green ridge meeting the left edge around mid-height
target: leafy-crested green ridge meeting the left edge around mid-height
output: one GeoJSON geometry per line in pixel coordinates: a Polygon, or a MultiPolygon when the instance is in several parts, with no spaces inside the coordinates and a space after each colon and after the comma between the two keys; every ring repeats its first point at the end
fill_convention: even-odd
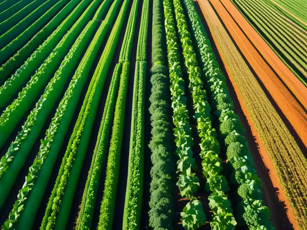
{"type": "MultiPolygon", "coordinates": [[[[6,110],[4,110],[0,117],[0,147],[4,144],[10,133],[13,132],[18,121],[32,105],[37,94],[39,94],[41,87],[49,80],[50,75],[52,75],[52,72],[56,70],[69,47],[73,44],[78,34],[90,20],[92,16],[91,12],[95,10],[99,1],[100,0],[94,0],[91,5],[88,6],[84,14],[81,15],[79,20],[76,21],[72,28],[65,34],[62,40],[53,49],[52,53],[47,59],[45,59],[44,63],[41,64],[35,74],[31,77],[27,85],[18,94],[18,98],[16,98],[9,106],[7,106],[6,110]]],[[[18,81],[18,78],[15,78],[14,80],[14,82],[16,82],[18,81]]],[[[2,100],[2,103],[10,100],[10,97],[8,96],[12,94],[12,91],[9,90],[13,90],[15,84],[13,83],[11,86],[12,87],[2,88],[0,92],[0,100],[2,100]]],[[[17,90],[17,88],[15,88],[15,90],[17,90]]]]}

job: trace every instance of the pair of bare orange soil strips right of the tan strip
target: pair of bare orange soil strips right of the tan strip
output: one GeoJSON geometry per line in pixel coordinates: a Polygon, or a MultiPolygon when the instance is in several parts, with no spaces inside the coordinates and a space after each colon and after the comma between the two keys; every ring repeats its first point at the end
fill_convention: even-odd
{"type": "Polygon", "coordinates": [[[280,107],[287,119],[290,121],[294,130],[301,138],[305,146],[307,146],[307,88],[297,79],[297,77],[286,67],[284,63],[278,58],[278,56],[270,49],[266,42],[258,35],[258,33],[251,27],[251,25],[244,19],[241,13],[235,8],[230,0],[212,1],[212,5],[216,9],[217,13],[223,20],[223,23],[229,30],[231,36],[234,38],[239,49],[250,63],[258,77],[263,82],[266,89],[272,95],[274,101],[280,107]],[[221,4],[221,2],[223,4],[221,4]],[[224,8],[224,6],[227,10],[224,8]],[[235,18],[236,22],[233,20],[235,18]],[[240,27],[239,27],[239,26],[240,27]],[[242,30],[245,34],[242,32],[242,30]],[[253,44],[251,44],[251,42],[253,44]],[[257,52],[256,48],[260,54],[257,52]],[[266,59],[267,63],[263,58],[266,59]],[[281,78],[285,82],[286,86],[292,91],[294,95],[291,95],[290,91],[278,79],[281,78]],[[301,105],[297,102],[299,100],[301,105]]]}

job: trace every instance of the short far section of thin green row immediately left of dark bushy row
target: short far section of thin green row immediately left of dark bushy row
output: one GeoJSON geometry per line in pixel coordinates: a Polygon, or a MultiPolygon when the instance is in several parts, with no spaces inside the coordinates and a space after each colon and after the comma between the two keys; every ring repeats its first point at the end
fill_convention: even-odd
{"type": "Polygon", "coordinates": [[[138,35],[137,61],[146,61],[149,0],[143,2],[140,31],[138,35]]]}

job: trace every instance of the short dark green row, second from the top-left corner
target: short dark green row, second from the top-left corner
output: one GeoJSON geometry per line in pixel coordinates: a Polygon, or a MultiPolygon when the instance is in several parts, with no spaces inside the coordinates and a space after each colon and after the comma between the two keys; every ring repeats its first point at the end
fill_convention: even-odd
{"type": "MultiPolygon", "coordinates": [[[[44,1],[41,1],[41,0],[35,0],[33,2],[30,2],[27,6],[19,10],[17,13],[12,15],[11,17],[6,18],[4,21],[0,23],[0,31],[1,31],[0,34],[2,35],[6,33],[9,29],[11,29],[14,25],[16,25],[26,16],[28,16],[33,10],[35,10],[37,7],[39,7],[43,3],[44,1]]],[[[0,17],[2,16],[1,14],[0,14],[0,17]]]]}

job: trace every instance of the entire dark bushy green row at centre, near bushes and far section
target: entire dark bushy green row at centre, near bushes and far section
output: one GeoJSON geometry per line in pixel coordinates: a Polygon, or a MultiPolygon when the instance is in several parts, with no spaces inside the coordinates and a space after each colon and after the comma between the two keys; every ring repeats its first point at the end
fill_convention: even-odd
{"type": "Polygon", "coordinates": [[[150,150],[153,167],[150,170],[149,226],[153,229],[173,229],[174,200],[172,178],[175,164],[169,117],[169,70],[164,29],[163,1],[153,0],[152,64],[150,82],[151,135],[150,150]],[[161,64],[159,64],[161,63],[161,64]]]}

